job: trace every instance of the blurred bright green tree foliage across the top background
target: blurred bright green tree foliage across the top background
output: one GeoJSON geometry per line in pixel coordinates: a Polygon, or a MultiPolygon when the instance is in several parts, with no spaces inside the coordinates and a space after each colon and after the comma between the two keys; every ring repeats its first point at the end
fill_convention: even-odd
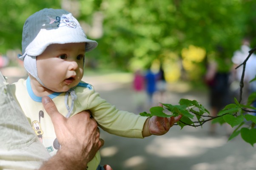
{"type": "Polygon", "coordinates": [[[226,68],[224,59],[230,59],[242,38],[250,37],[252,47],[256,45],[253,0],[1,0],[0,53],[21,49],[28,16],[66,3],[78,3],[77,19],[89,25],[96,12],[104,17],[99,46],[87,54],[98,67],[128,70],[131,61],[147,65],[162,54],[180,56],[184,47],[195,45],[207,53],[223,47],[220,64],[226,68]]]}

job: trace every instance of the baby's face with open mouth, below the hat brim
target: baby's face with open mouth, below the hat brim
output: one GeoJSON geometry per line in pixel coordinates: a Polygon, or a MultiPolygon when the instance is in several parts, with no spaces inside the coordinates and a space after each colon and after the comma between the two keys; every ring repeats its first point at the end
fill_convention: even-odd
{"type": "Polygon", "coordinates": [[[85,43],[52,44],[37,56],[37,74],[53,92],[66,92],[83,76],[85,43]]]}

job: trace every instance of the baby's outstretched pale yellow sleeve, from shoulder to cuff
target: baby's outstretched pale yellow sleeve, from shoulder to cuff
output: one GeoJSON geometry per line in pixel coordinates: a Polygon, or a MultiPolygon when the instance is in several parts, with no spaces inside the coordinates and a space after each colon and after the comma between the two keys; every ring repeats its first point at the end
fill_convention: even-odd
{"type": "Polygon", "coordinates": [[[116,109],[115,106],[100,98],[94,88],[90,90],[89,97],[84,99],[80,102],[87,105],[88,110],[104,131],[122,137],[143,138],[142,130],[148,117],[116,109]]]}

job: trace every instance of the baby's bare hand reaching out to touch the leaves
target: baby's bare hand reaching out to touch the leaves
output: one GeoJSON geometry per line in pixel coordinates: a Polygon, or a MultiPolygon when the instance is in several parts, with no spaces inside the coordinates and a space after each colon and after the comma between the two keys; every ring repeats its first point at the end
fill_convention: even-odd
{"type": "MultiPolygon", "coordinates": [[[[162,104],[160,104],[162,106],[162,104]]],[[[148,118],[143,126],[142,136],[148,137],[153,135],[163,135],[166,134],[169,129],[178,122],[182,115],[177,117],[157,117],[153,116],[148,118]]]]}

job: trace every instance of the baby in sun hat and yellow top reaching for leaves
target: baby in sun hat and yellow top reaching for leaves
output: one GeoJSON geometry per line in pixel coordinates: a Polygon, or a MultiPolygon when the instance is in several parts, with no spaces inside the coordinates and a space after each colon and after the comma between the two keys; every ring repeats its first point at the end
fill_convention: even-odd
{"type": "MultiPolygon", "coordinates": [[[[165,134],[181,117],[142,117],[119,111],[100,98],[93,86],[81,81],[85,52],[95,47],[97,42],[87,39],[79,22],[62,9],[43,9],[28,17],[24,24],[23,55],[19,59],[24,61],[29,76],[12,84],[11,89],[51,155],[61,148],[51,119],[44,114],[43,96],[49,96],[66,117],[90,110],[104,131],[122,137],[165,134]]],[[[88,163],[88,170],[101,170],[99,164],[100,154],[97,153],[88,163]]]]}

